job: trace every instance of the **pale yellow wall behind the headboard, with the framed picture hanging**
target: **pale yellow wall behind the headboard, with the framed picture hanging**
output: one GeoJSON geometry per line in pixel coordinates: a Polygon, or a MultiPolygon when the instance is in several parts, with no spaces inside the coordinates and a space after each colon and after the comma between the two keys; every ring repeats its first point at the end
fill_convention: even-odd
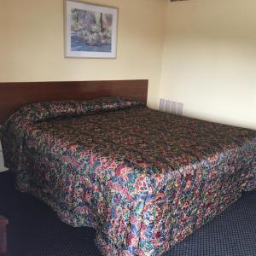
{"type": "Polygon", "coordinates": [[[165,0],[93,0],[119,8],[116,60],[65,59],[62,0],[0,0],[0,82],[149,79],[158,104],[165,0]]]}

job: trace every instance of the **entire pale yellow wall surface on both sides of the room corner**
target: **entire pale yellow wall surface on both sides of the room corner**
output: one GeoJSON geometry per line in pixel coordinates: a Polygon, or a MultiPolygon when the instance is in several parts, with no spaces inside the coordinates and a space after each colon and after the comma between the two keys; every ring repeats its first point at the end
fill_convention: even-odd
{"type": "Polygon", "coordinates": [[[149,79],[149,107],[256,129],[255,0],[92,2],[119,8],[116,60],[64,58],[62,0],[0,0],[0,82],[149,79]]]}

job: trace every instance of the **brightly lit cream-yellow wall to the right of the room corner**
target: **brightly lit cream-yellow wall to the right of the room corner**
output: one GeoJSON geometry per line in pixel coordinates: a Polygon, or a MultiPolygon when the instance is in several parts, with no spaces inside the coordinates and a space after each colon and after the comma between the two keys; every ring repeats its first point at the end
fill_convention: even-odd
{"type": "Polygon", "coordinates": [[[169,3],[160,96],[186,115],[256,129],[256,1],[169,3]]]}

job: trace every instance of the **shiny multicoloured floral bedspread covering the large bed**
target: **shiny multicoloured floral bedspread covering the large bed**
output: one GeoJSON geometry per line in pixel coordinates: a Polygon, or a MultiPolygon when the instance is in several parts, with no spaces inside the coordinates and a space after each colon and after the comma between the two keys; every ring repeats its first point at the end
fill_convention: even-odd
{"type": "Polygon", "coordinates": [[[18,189],[95,228],[104,255],[160,255],[256,189],[256,131],[137,101],[31,104],[3,135],[18,189]]]}

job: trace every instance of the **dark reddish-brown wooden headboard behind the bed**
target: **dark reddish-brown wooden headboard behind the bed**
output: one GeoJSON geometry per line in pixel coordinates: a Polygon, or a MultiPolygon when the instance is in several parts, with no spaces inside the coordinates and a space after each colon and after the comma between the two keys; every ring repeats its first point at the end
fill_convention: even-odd
{"type": "Polygon", "coordinates": [[[0,124],[27,103],[127,96],[147,103],[148,80],[0,83],[0,124]]]}

